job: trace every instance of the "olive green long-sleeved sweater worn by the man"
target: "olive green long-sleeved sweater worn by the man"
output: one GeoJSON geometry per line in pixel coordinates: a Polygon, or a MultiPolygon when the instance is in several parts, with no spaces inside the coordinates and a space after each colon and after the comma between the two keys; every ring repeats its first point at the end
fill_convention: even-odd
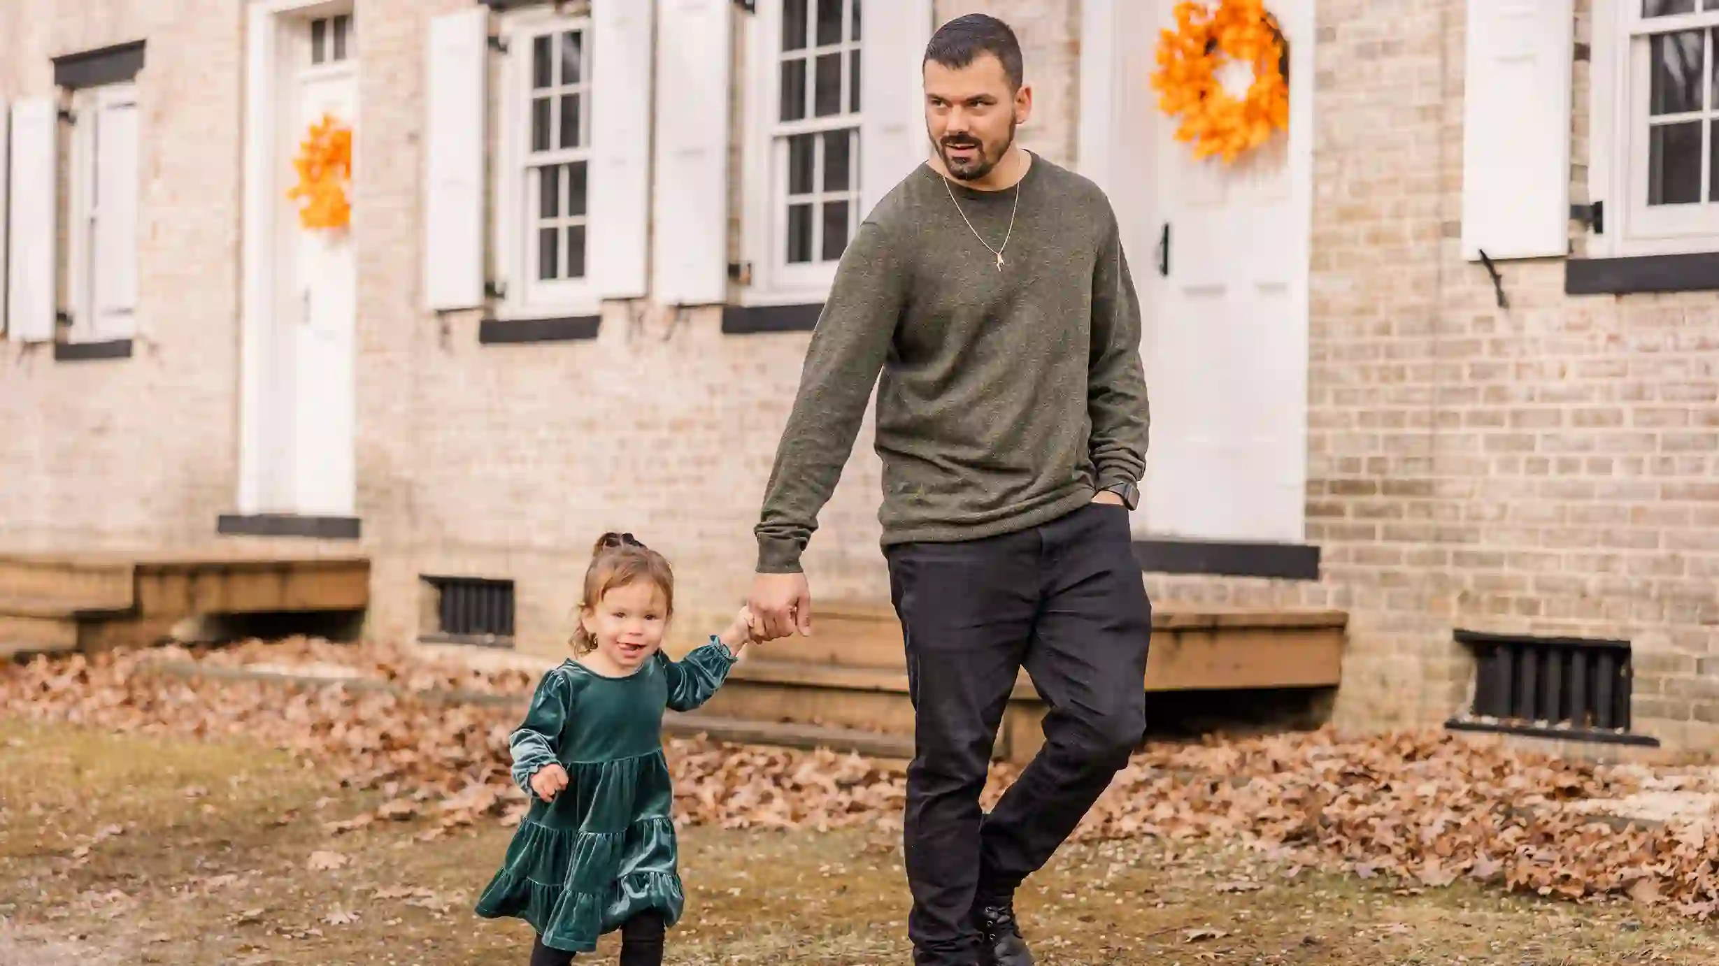
{"type": "Polygon", "coordinates": [[[760,572],[799,569],[873,383],[885,547],[1019,531],[1138,481],[1140,304],[1104,193],[1035,155],[1018,189],[921,165],[877,205],[806,352],[756,526],[760,572]],[[1002,248],[1000,272],[975,232],[1002,248]]]}

